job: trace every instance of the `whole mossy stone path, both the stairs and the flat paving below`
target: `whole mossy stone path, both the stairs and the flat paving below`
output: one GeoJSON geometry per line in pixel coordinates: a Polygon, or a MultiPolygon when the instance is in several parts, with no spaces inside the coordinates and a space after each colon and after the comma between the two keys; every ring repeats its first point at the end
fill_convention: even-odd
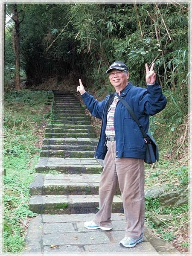
{"type": "Polygon", "coordinates": [[[29,208],[37,217],[29,221],[24,252],[178,253],[162,239],[155,240],[147,226],[143,243],[133,248],[119,245],[126,227],[119,190],[113,199],[113,229],[84,227],[99,209],[103,162],[93,158],[98,138],[76,97],[67,91],[53,93],[54,117],[46,127],[37,174],[30,184],[29,208]]]}

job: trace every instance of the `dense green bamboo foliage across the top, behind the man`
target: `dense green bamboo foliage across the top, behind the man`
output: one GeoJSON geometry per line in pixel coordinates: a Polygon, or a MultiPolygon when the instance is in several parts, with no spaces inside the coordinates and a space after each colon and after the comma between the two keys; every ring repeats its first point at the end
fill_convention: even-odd
{"type": "Polygon", "coordinates": [[[103,88],[105,70],[121,60],[135,84],[143,85],[144,64],[155,61],[163,87],[187,85],[187,4],[26,4],[24,12],[20,47],[29,84],[73,72],[103,88]]]}

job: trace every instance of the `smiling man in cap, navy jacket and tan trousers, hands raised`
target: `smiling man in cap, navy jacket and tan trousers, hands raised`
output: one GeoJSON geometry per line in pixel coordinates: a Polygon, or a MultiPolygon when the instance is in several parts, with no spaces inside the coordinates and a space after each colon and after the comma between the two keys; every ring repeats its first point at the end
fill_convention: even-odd
{"type": "MultiPolygon", "coordinates": [[[[145,133],[149,127],[149,116],[166,106],[166,98],[156,74],[145,64],[147,88],[136,87],[128,82],[129,72],[122,61],[115,61],[106,73],[116,90],[131,106],[145,133]]],[[[134,247],[143,241],[144,226],[144,156],[145,141],[137,123],[119,101],[115,93],[98,102],[84,90],[79,79],[77,91],[93,116],[102,119],[101,134],[95,158],[104,159],[104,169],[99,183],[99,212],[92,221],[84,222],[87,229],[111,230],[113,196],[120,189],[127,221],[125,237],[119,242],[125,247],[134,247]]]]}

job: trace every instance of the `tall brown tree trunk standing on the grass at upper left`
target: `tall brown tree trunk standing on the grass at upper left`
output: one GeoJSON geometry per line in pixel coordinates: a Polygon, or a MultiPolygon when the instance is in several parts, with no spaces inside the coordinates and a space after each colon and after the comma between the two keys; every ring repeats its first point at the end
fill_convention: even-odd
{"type": "Polygon", "coordinates": [[[14,84],[17,90],[20,90],[20,48],[19,48],[19,15],[17,11],[17,4],[14,4],[13,17],[15,27],[13,29],[13,49],[15,52],[15,77],[14,84]]]}

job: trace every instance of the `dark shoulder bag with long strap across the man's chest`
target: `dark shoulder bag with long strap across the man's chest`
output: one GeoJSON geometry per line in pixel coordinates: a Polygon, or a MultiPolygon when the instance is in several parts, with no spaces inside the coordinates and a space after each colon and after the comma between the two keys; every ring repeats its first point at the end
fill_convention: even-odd
{"type": "Polygon", "coordinates": [[[146,151],[145,151],[145,163],[155,163],[156,161],[159,161],[159,150],[158,150],[158,146],[157,143],[155,142],[154,138],[151,136],[151,134],[145,133],[143,131],[142,125],[140,124],[139,120],[137,119],[137,116],[134,114],[134,112],[132,111],[130,105],[124,100],[122,99],[117,93],[115,93],[115,95],[119,98],[119,100],[122,102],[122,104],[125,106],[125,108],[128,110],[128,112],[130,113],[130,115],[132,116],[132,118],[134,119],[134,121],[137,123],[137,125],[140,128],[140,131],[143,134],[143,138],[145,140],[145,145],[146,145],[146,151]]]}

